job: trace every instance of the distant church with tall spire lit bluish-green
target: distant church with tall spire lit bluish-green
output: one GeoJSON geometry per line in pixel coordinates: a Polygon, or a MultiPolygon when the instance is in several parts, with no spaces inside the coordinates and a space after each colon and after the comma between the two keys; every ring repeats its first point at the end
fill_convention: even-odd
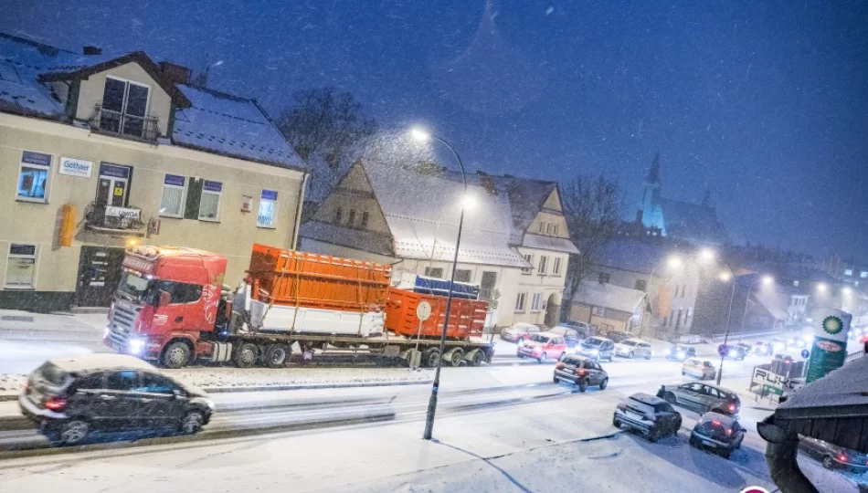
{"type": "Polygon", "coordinates": [[[663,198],[660,152],[654,156],[651,171],[642,186],[640,224],[661,236],[688,241],[693,245],[723,245],[728,241],[724,226],[706,193],[702,204],[663,198]]]}

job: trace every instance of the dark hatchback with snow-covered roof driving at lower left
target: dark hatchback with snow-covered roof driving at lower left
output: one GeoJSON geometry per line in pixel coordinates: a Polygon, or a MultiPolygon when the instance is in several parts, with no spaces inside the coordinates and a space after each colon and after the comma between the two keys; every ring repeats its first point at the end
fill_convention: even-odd
{"type": "Polygon", "coordinates": [[[70,446],[92,431],[170,429],[192,435],[214,412],[201,389],[122,354],[45,362],[30,375],[18,404],[49,440],[70,446]]]}

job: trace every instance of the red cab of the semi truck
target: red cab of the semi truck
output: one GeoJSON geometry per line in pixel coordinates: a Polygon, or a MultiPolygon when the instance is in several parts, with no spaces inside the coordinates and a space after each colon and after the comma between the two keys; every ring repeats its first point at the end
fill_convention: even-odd
{"type": "Polygon", "coordinates": [[[209,353],[200,336],[226,324],[227,301],[221,296],[226,266],[226,257],[193,248],[129,249],[103,342],[166,366],[180,367],[209,353]]]}

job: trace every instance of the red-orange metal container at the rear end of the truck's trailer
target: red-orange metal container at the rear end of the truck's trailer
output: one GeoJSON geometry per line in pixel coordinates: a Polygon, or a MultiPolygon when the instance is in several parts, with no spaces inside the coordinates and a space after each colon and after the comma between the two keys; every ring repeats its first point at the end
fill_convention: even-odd
{"type": "MultiPolygon", "coordinates": [[[[398,288],[389,288],[386,329],[398,335],[415,338],[419,331],[416,307],[422,300],[431,304],[431,316],[422,322],[421,336],[424,339],[440,337],[443,320],[446,318],[446,297],[419,294],[398,288]]],[[[488,303],[485,301],[453,298],[446,337],[466,340],[471,336],[482,336],[487,310],[488,303]]]]}

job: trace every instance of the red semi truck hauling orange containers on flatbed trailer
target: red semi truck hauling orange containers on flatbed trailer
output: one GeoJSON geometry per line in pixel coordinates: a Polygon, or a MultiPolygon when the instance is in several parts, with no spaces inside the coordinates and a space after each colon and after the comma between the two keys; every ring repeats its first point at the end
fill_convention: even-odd
{"type": "MultiPolygon", "coordinates": [[[[224,285],[227,258],[185,247],[132,247],[103,341],[118,352],[181,368],[191,362],[281,367],[291,348],[367,352],[435,365],[444,297],[390,285],[391,266],[254,245],[247,276],[224,285]],[[431,304],[424,324],[411,316],[431,304]],[[438,329],[439,327],[439,329],[438,329]]],[[[453,299],[444,363],[491,362],[487,304],[453,299]]]]}

